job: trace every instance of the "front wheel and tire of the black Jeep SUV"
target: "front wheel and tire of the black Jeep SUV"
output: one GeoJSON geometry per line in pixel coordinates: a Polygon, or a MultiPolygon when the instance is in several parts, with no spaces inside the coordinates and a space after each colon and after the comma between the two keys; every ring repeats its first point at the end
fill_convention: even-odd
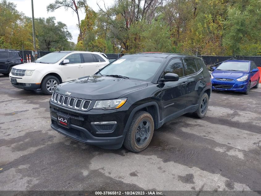
{"type": "Polygon", "coordinates": [[[149,145],[154,133],[152,116],[145,111],[139,111],[134,116],[124,138],[123,145],[130,151],[140,152],[149,145]]]}

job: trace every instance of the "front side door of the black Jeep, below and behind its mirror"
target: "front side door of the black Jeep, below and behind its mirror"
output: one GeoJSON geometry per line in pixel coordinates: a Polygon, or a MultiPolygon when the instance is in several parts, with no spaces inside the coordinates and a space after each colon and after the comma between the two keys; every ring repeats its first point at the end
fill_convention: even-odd
{"type": "Polygon", "coordinates": [[[187,102],[188,81],[184,75],[182,59],[171,59],[163,72],[163,77],[166,73],[178,74],[179,81],[161,84],[163,121],[182,115],[187,102]]]}

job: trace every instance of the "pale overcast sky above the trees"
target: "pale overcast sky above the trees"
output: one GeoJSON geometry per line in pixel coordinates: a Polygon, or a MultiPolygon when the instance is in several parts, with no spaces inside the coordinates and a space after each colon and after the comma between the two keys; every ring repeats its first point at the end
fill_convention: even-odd
{"type": "MultiPolygon", "coordinates": [[[[32,17],[32,6],[31,0],[8,0],[14,2],[17,5],[17,10],[23,12],[26,16],[32,17]]],[[[34,17],[44,17],[48,18],[50,16],[55,16],[56,21],[61,21],[66,24],[68,31],[72,34],[74,43],[77,43],[77,38],[79,35],[79,29],[76,27],[78,24],[78,19],[76,13],[72,9],[65,11],[63,7],[55,10],[54,12],[47,12],[46,7],[54,2],[54,0],[34,0],[34,17]]],[[[104,7],[104,2],[106,7],[112,5],[114,0],[97,0],[100,7],[104,7]]],[[[99,10],[99,7],[96,4],[96,0],[87,0],[88,5],[95,11],[99,10]]],[[[79,12],[80,20],[85,18],[84,11],[79,12]]]]}

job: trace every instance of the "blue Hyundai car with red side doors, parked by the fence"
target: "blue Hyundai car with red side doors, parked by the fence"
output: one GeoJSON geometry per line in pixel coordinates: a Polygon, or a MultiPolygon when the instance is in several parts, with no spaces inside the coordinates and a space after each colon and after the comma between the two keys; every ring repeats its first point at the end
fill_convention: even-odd
{"type": "Polygon", "coordinates": [[[211,75],[213,90],[229,90],[248,94],[258,88],[259,69],[253,61],[227,60],[213,67],[211,75]]]}

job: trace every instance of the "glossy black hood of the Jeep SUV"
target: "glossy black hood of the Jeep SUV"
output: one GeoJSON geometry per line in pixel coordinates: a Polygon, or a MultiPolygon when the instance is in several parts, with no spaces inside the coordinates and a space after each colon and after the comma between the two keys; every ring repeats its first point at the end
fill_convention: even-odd
{"type": "Polygon", "coordinates": [[[114,99],[131,91],[145,88],[147,82],[109,76],[87,76],[57,86],[55,92],[92,100],[114,99]]]}

